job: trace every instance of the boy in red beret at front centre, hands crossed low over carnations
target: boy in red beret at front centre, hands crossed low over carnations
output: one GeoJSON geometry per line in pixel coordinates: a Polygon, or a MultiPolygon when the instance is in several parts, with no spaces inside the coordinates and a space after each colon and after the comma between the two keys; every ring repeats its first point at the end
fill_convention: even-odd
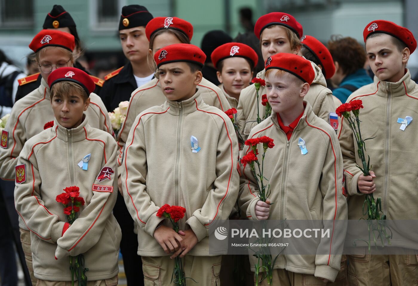
{"type": "Polygon", "coordinates": [[[186,277],[199,285],[219,284],[223,253],[209,254],[209,226],[229,217],[238,195],[234,127],[222,110],[202,100],[197,84],[203,51],[174,44],[157,51],[154,59],[167,100],[136,117],[121,176],[125,203],[139,225],[144,279],[174,285],[171,258],[180,255],[186,277]],[[164,204],[186,208],[179,221],[184,235],[156,216],[164,204]]]}

